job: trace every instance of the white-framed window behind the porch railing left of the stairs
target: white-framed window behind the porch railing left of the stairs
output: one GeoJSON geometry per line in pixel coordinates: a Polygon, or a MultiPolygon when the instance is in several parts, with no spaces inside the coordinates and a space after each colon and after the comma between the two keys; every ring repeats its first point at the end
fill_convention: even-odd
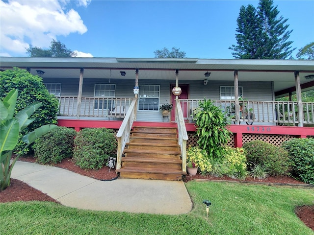
{"type": "Polygon", "coordinates": [[[112,98],[116,94],[115,84],[95,84],[94,90],[94,108],[95,109],[111,109],[114,107],[112,98]],[[99,99],[97,99],[99,98],[99,99]]]}

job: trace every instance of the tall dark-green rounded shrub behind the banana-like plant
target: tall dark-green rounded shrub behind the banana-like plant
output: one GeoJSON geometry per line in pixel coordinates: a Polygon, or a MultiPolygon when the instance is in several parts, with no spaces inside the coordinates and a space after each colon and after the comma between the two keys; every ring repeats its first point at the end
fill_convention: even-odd
{"type": "MultiPolygon", "coordinates": [[[[34,102],[41,102],[40,106],[33,114],[36,119],[29,124],[25,129],[21,130],[19,142],[14,149],[15,153],[27,154],[31,148],[25,148],[25,143],[22,137],[31,130],[45,124],[56,124],[58,113],[58,100],[54,95],[49,94],[47,88],[42,82],[42,78],[32,75],[26,70],[14,68],[0,72],[0,97],[3,99],[11,90],[18,91],[17,103],[15,112],[19,112],[27,105],[34,102]],[[21,152],[23,149],[23,152],[21,152]]],[[[31,146],[31,145],[30,145],[31,146]]]]}

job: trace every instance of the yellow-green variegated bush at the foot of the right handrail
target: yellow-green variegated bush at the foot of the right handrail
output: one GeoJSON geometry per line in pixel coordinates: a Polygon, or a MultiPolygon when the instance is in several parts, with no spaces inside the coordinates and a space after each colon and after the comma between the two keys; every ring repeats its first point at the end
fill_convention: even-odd
{"type": "Polygon", "coordinates": [[[198,146],[189,146],[186,150],[187,164],[196,164],[202,174],[211,170],[211,164],[208,161],[207,153],[198,146]]]}

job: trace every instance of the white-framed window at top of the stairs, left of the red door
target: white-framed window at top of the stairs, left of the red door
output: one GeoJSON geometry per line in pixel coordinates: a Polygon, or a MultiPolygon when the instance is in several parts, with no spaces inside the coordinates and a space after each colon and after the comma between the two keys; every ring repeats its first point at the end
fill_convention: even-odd
{"type": "Polygon", "coordinates": [[[139,85],[138,110],[159,111],[159,85],[139,85]]]}

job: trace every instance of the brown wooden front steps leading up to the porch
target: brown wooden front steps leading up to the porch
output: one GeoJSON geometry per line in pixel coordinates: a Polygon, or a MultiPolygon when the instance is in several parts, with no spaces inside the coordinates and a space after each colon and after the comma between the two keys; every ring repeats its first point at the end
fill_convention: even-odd
{"type": "Polygon", "coordinates": [[[135,126],[123,151],[121,178],[181,180],[181,150],[177,128],[135,126]]]}

